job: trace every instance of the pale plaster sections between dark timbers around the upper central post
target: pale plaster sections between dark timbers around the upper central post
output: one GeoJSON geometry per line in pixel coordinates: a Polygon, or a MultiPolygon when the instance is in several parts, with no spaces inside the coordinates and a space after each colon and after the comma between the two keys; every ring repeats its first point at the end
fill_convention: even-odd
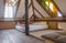
{"type": "MultiPolygon", "coordinates": [[[[25,14],[25,0],[21,0],[18,13],[15,18],[23,18],[23,15],[25,14]]],[[[42,7],[36,2],[36,0],[33,0],[34,2],[34,7],[42,13],[43,17],[50,17],[43,9],[42,7]]],[[[29,0],[29,6],[31,3],[31,0],[29,0]]],[[[33,10],[32,10],[32,6],[29,8],[29,18],[31,18],[33,14],[33,10]]],[[[36,11],[35,14],[40,18],[42,18],[36,11]]]]}

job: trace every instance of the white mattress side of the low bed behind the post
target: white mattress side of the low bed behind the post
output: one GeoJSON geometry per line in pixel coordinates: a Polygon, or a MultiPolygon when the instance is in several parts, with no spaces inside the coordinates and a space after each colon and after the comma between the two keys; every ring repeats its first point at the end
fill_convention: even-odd
{"type": "MultiPolygon", "coordinates": [[[[37,30],[44,30],[47,29],[47,25],[29,25],[30,31],[37,31],[37,30]]],[[[16,30],[20,31],[25,31],[25,26],[21,26],[21,25],[15,25],[16,30]]]]}

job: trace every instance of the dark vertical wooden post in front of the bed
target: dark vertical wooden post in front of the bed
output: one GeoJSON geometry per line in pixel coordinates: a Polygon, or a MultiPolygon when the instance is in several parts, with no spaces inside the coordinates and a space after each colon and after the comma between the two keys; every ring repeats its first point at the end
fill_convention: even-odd
{"type": "Polygon", "coordinates": [[[25,0],[25,34],[29,35],[29,0],[25,0]]]}

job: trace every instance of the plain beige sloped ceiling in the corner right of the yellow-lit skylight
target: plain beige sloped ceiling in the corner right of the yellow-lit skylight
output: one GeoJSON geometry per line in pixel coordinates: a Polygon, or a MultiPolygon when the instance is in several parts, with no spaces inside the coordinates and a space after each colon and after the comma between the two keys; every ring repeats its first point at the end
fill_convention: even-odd
{"type": "Polygon", "coordinates": [[[66,0],[54,0],[63,14],[66,15],[66,0]]]}

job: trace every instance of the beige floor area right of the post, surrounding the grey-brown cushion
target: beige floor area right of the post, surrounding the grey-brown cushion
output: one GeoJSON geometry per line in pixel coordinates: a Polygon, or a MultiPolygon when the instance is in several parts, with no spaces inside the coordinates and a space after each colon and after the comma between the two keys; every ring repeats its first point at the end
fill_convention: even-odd
{"type": "Polygon", "coordinates": [[[34,32],[30,32],[30,34],[38,40],[44,40],[45,43],[56,43],[52,40],[48,39],[43,39],[41,35],[50,33],[50,32],[61,32],[61,30],[42,30],[42,31],[34,31],[34,32]]]}

